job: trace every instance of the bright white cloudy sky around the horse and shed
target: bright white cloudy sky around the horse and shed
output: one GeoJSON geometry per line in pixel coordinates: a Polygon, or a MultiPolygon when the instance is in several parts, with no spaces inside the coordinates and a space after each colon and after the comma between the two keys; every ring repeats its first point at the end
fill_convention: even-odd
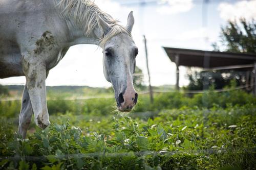
{"type": "MultiPolygon", "coordinates": [[[[205,6],[207,12],[204,13],[203,0],[159,0],[158,4],[144,8],[138,5],[121,5],[127,2],[130,1],[95,0],[103,11],[119,19],[123,25],[126,25],[129,12],[134,11],[133,37],[139,48],[137,66],[142,68],[146,82],[142,39],[145,34],[148,39],[148,57],[154,86],[176,83],[176,66],[168,59],[162,46],[212,50],[211,43],[220,40],[220,28],[228,19],[256,18],[256,0],[211,0],[208,6],[205,6]]],[[[180,86],[187,85],[186,68],[180,67],[180,72],[180,86]]],[[[25,84],[25,78],[0,79],[0,84],[25,84]]],[[[65,58],[50,71],[47,85],[111,86],[103,76],[101,49],[95,45],[71,47],[65,58]]]]}

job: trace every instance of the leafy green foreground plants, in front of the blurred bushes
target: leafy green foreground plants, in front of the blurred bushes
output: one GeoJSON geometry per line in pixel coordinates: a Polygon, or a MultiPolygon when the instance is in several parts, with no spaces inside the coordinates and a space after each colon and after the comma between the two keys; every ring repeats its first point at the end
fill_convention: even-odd
{"type": "Polygon", "coordinates": [[[165,110],[147,120],[67,113],[26,140],[2,119],[0,168],[255,169],[255,113],[253,105],[165,110]]]}

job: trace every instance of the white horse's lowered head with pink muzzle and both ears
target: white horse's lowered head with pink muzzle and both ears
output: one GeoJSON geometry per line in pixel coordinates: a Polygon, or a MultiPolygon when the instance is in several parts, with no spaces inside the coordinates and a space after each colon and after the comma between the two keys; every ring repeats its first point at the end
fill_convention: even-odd
{"type": "MultiPolygon", "coordinates": [[[[99,25],[104,35],[108,36],[113,26],[99,19],[99,25]]],[[[130,112],[138,101],[138,93],[133,86],[138,48],[131,36],[134,17],[131,12],[128,16],[126,32],[112,36],[104,43],[103,71],[107,81],[112,83],[115,91],[117,108],[121,112],[130,112]]]]}

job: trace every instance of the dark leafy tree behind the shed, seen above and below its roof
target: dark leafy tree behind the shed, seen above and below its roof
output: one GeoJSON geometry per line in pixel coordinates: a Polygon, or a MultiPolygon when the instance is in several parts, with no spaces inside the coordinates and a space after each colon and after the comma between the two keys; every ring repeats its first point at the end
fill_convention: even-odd
{"type": "MultiPolygon", "coordinates": [[[[213,43],[214,51],[220,51],[224,47],[225,52],[234,53],[256,53],[256,22],[254,20],[247,22],[245,19],[237,21],[228,21],[227,26],[221,28],[221,46],[213,43]]],[[[190,80],[187,89],[202,90],[207,86],[214,85],[221,89],[231,80],[236,80],[237,85],[246,84],[246,72],[236,70],[219,70],[188,73],[190,80]]]]}

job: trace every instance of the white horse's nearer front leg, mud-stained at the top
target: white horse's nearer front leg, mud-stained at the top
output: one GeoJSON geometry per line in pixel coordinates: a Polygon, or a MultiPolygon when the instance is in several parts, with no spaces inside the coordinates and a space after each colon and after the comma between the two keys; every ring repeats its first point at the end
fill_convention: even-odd
{"type": "Polygon", "coordinates": [[[23,65],[35,124],[45,129],[50,125],[46,103],[46,66],[40,62],[24,62],[23,65]]]}

